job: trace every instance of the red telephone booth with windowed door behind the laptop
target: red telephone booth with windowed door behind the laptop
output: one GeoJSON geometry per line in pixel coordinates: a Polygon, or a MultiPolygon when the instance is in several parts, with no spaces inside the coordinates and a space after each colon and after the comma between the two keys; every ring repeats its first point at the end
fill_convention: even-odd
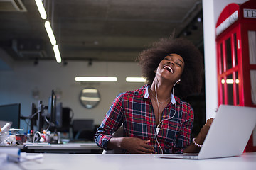
{"type": "MultiPolygon", "coordinates": [[[[216,24],[216,43],[218,104],[256,107],[256,1],[223,9],[216,24]]],[[[245,152],[255,151],[256,130],[245,148],[245,152]]]]}

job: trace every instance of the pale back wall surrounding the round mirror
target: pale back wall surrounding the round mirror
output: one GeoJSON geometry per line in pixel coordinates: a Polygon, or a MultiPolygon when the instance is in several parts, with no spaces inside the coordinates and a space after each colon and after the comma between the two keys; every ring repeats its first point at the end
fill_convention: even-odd
{"type": "MultiPolygon", "coordinates": [[[[68,65],[55,61],[14,62],[13,70],[0,71],[0,105],[21,103],[21,114],[30,114],[30,103],[38,100],[32,96],[32,91],[40,91],[39,99],[48,105],[48,97],[52,89],[62,91],[62,97],[57,102],[63,102],[63,107],[70,107],[75,113],[74,118],[92,118],[95,124],[100,124],[105,113],[110,108],[115,96],[123,91],[134,90],[143,83],[127,83],[125,77],[140,77],[141,69],[135,62],[68,62],[68,65]],[[109,76],[117,77],[117,82],[81,84],[75,81],[76,76],[109,76]],[[93,86],[100,91],[102,101],[96,108],[87,109],[80,104],[80,91],[93,86]]],[[[24,123],[21,125],[24,127],[24,123]]],[[[24,127],[26,129],[26,127],[24,127]]]]}

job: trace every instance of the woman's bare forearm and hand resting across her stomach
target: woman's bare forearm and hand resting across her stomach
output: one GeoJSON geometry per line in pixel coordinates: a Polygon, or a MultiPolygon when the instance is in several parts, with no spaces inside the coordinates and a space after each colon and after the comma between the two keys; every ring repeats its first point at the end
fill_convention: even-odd
{"type": "Polygon", "coordinates": [[[112,137],[109,142],[113,144],[112,146],[126,149],[130,154],[154,153],[154,147],[148,144],[150,140],[142,140],[137,137],[112,137]]]}

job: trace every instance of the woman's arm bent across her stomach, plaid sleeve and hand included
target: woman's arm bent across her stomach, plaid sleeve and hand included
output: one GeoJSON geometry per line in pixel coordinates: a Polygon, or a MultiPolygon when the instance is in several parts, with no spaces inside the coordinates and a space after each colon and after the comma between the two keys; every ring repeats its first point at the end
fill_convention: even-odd
{"type": "Polygon", "coordinates": [[[115,132],[123,122],[122,94],[115,98],[110,110],[105,115],[102,124],[95,134],[95,142],[103,149],[122,148],[129,153],[146,154],[154,153],[154,147],[148,145],[149,140],[142,140],[136,137],[113,137],[115,132]]]}

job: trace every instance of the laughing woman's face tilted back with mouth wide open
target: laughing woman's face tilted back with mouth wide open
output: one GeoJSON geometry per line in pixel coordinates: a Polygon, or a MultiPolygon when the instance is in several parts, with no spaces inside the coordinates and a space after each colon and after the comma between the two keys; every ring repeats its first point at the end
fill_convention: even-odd
{"type": "Polygon", "coordinates": [[[180,55],[170,54],[161,60],[156,74],[164,79],[169,79],[171,82],[176,82],[178,79],[181,79],[184,67],[185,62],[180,55]]]}

